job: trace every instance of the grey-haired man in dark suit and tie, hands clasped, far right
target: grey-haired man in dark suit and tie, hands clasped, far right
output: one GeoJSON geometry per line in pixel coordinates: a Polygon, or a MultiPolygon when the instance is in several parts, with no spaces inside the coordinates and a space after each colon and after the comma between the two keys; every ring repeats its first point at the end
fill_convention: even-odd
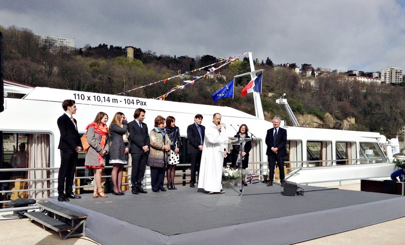
{"type": "Polygon", "coordinates": [[[284,157],[287,156],[286,150],[287,144],[287,130],[280,128],[280,119],[278,117],[273,118],[273,128],[267,130],[266,145],[269,162],[270,176],[267,186],[273,185],[274,168],[277,162],[278,171],[280,172],[281,186],[284,186],[284,157]]]}

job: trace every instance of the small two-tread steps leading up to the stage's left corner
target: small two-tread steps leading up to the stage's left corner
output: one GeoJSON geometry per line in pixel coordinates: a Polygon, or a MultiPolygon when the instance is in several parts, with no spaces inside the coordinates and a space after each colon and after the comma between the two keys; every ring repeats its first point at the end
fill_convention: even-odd
{"type": "Polygon", "coordinates": [[[27,212],[24,215],[30,218],[31,221],[34,220],[42,224],[44,229],[45,227],[53,229],[59,233],[61,239],[86,235],[87,215],[80,214],[50,202],[37,203],[36,205],[41,208],[41,212],[27,212]],[[80,227],[82,228],[82,232],[77,231],[80,227]],[[63,231],[69,232],[62,237],[63,231]]]}

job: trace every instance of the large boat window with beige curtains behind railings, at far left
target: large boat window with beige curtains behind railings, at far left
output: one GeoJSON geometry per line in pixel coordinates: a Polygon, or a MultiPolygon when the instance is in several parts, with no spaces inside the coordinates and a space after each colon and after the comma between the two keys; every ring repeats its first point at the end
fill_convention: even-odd
{"type": "MultiPolygon", "coordinates": [[[[49,167],[49,140],[47,133],[13,133],[2,132],[0,137],[1,168],[10,168],[14,171],[0,172],[0,179],[12,180],[1,183],[2,190],[41,189],[49,188],[49,180],[21,181],[24,179],[46,179],[49,171],[27,171],[23,168],[48,168],[49,167]],[[20,170],[21,169],[21,170],[20,170]]],[[[39,191],[13,191],[5,193],[3,200],[15,200],[18,198],[47,198],[49,190],[39,191]]]]}

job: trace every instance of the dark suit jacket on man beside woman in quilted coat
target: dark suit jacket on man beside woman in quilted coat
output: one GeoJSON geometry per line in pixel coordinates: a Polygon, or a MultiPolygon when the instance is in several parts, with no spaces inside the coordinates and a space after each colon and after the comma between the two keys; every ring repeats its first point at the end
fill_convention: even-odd
{"type": "Polygon", "coordinates": [[[130,132],[129,140],[131,141],[131,153],[143,153],[142,147],[148,145],[150,148],[150,139],[148,126],[141,122],[141,126],[134,120],[128,123],[128,131],[130,132]]]}

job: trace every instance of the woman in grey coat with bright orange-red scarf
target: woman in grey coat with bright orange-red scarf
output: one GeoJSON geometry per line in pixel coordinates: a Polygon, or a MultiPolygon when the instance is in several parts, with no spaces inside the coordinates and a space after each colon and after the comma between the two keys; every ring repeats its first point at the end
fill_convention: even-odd
{"type": "Polygon", "coordinates": [[[87,125],[87,142],[90,147],[86,154],[85,168],[93,169],[94,172],[94,192],[93,198],[107,198],[101,187],[101,172],[105,166],[105,154],[108,153],[109,131],[107,125],[108,116],[104,112],[97,113],[94,122],[87,125]]]}

